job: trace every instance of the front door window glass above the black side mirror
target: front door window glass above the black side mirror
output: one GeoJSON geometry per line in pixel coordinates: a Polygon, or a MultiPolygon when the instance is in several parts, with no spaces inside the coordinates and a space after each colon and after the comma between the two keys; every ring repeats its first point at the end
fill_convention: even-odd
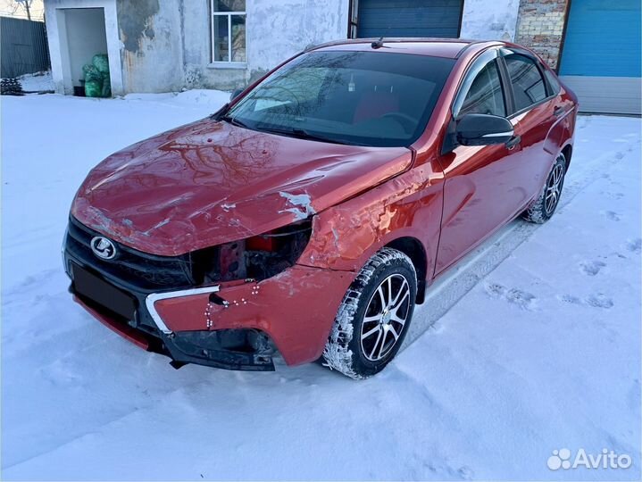
{"type": "Polygon", "coordinates": [[[499,79],[496,61],[488,62],[472,81],[458,117],[467,113],[506,116],[502,82],[499,79]]]}

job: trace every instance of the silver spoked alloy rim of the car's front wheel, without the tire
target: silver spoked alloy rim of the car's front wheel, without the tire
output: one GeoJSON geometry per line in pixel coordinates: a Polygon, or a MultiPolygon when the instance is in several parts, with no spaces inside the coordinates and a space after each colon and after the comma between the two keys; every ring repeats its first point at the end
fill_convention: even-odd
{"type": "Polygon", "coordinates": [[[378,362],[390,353],[404,330],[410,304],[410,286],[403,275],[381,281],[361,325],[361,350],[367,360],[378,362]]]}

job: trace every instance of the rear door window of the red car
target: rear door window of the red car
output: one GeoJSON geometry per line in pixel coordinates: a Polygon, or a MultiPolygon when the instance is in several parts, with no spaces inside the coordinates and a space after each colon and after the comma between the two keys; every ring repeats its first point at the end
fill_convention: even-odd
{"type": "Polygon", "coordinates": [[[546,84],[535,61],[520,54],[508,55],[504,61],[513,84],[516,111],[546,99],[546,84]]]}

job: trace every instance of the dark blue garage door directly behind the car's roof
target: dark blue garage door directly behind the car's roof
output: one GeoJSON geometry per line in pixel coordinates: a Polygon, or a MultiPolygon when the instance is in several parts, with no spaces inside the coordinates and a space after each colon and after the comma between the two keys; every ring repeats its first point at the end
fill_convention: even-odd
{"type": "Polygon", "coordinates": [[[463,0],[358,0],[357,37],[459,37],[463,0]]]}

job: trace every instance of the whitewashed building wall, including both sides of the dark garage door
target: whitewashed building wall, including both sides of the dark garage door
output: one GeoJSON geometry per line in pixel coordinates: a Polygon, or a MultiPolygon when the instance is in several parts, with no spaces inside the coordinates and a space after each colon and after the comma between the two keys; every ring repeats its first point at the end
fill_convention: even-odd
{"type": "MultiPolygon", "coordinates": [[[[464,0],[461,37],[512,40],[519,0],[464,0]]],[[[213,64],[209,0],[45,0],[54,82],[63,81],[65,36],[56,9],[104,8],[114,95],[183,87],[232,89],[307,46],[347,37],[349,0],[246,0],[247,60],[213,64]]],[[[66,62],[68,63],[68,61],[66,62]]]]}

